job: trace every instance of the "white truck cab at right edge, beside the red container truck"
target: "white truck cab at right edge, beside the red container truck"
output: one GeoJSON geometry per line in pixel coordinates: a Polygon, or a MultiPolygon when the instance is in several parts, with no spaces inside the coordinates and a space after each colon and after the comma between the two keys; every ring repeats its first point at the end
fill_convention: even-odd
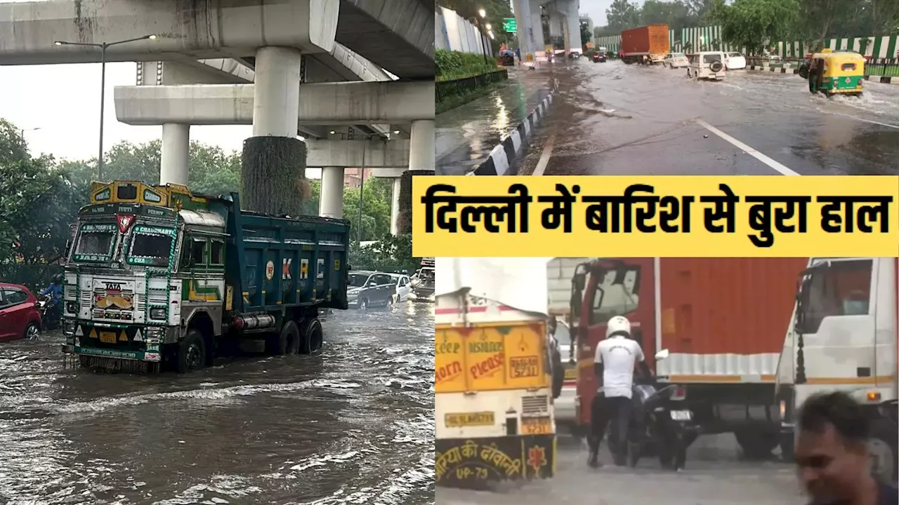
{"type": "Polygon", "coordinates": [[[781,448],[792,456],[798,408],[845,391],[869,407],[872,471],[895,482],[899,259],[812,258],[778,364],[781,448]]]}

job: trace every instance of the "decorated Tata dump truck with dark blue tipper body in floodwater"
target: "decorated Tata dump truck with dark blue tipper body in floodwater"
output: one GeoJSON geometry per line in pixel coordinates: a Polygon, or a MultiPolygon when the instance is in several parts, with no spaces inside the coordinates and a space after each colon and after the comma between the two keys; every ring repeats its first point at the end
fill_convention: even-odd
{"type": "Polygon", "coordinates": [[[349,236],[343,219],[241,210],[237,193],[94,182],[68,248],[62,350],[180,372],[229,348],[315,353],[319,311],[347,308],[349,236]]]}

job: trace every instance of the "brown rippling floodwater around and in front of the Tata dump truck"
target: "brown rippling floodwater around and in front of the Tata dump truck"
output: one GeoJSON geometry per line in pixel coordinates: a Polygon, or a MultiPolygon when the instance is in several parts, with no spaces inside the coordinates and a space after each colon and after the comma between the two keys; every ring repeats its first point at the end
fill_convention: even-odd
{"type": "Polygon", "coordinates": [[[176,376],[0,345],[0,503],[433,503],[433,307],[335,311],[320,356],[176,376]]]}

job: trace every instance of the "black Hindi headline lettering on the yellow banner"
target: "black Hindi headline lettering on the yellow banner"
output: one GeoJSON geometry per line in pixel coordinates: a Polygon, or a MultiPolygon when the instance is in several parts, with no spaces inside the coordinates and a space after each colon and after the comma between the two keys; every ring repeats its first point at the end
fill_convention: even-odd
{"type": "MultiPolygon", "coordinates": [[[[820,227],[829,234],[881,233],[889,229],[892,196],[746,196],[740,197],[727,184],[718,184],[719,194],[659,196],[649,184],[631,184],[621,195],[581,195],[581,186],[556,184],[556,194],[537,196],[540,226],[573,233],[575,204],[582,204],[583,226],[604,234],[666,234],[691,231],[694,211],[702,212],[702,224],[713,234],[733,234],[737,228],[737,206],[746,205],[747,235],[756,247],[774,244],[774,231],[783,234],[808,231],[809,204],[820,205],[820,227]],[[697,204],[699,202],[699,204],[697,204]]],[[[521,183],[509,186],[508,196],[462,196],[456,186],[434,184],[424,196],[425,233],[522,234],[530,227],[534,196],[521,183]],[[503,224],[505,226],[500,226],[503,224]],[[478,224],[483,230],[478,229],[478,224]]],[[[741,213],[742,214],[742,213],[741,213]]]]}

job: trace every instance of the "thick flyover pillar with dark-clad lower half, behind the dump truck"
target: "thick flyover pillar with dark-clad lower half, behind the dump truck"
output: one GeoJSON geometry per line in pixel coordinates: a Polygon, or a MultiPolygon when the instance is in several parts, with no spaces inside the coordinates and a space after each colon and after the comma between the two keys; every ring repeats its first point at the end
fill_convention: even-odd
{"type": "Polygon", "coordinates": [[[253,137],[244,141],[241,190],[245,208],[268,214],[302,213],[306,145],[297,138],[300,51],[256,51],[253,137]]]}

